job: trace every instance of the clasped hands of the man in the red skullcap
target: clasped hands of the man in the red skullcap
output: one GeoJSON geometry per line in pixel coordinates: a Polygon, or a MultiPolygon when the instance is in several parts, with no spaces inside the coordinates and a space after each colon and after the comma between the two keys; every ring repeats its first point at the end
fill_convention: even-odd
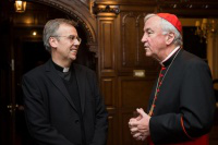
{"type": "Polygon", "coordinates": [[[145,113],[145,111],[141,109],[136,109],[138,112],[137,118],[130,119],[129,126],[131,134],[136,140],[144,141],[150,133],[149,133],[149,120],[150,117],[145,113]]]}

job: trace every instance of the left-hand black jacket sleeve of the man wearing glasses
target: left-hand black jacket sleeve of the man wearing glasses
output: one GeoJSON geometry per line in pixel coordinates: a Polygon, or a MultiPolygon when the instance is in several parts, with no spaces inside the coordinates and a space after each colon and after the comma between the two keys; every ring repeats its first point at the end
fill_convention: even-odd
{"type": "Polygon", "coordinates": [[[73,145],[50,124],[45,98],[36,77],[24,75],[22,88],[26,123],[32,136],[40,145],[73,145]]]}

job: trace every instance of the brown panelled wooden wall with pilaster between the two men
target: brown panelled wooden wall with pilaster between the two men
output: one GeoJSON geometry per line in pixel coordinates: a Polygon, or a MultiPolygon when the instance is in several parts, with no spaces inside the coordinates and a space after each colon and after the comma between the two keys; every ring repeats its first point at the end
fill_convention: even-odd
{"type": "Polygon", "coordinates": [[[99,82],[110,114],[108,145],[145,144],[133,140],[128,122],[136,108],[146,110],[158,64],[145,57],[141,43],[146,11],[122,9],[97,14],[99,82]],[[145,76],[134,76],[134,70],[145,76]]]}

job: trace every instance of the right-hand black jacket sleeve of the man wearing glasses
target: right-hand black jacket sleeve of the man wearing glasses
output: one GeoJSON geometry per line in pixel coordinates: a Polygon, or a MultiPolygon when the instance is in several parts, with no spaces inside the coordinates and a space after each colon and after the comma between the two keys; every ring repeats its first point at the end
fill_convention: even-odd
{"type": "Polygon", "coordinates": [[[96,100],[96,121],[95,121],[95,133],[93,137],[93,142],[90,145],[106,145],[107,142],[107,133],[108,133],[108,112],[106,110],[106,106],[100,95],[96,75],[93,73],[93,85],[94,85],[94,94],[96,100]]]}

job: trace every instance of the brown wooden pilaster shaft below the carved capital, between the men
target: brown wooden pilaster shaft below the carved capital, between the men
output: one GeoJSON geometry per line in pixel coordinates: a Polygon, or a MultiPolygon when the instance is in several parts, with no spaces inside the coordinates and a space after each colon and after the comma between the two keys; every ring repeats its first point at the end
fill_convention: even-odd
{"type": "Polygon", "coordinates": [[[97,19],[99,78],[101,93],[109,112],[109,132],[107,145],[117,145],[119,138],[116,94],[116,20],[117,15],[110,13],[100,13],[97,19]]]}

